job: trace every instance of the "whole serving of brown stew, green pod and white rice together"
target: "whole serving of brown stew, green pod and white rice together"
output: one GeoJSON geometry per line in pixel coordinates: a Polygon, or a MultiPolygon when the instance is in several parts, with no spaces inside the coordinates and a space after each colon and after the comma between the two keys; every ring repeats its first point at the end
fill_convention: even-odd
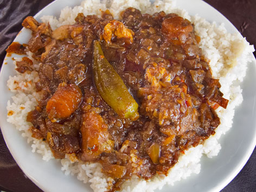
{"type": "Polygon", "coordinates": [[[153,190],[198,173],[232,125],[242,101],[233,82],[253,47],[172,2],[92,3],[59,20],[25,18],[31,39],[7,49],[27,53],[8,81],[8,121],[43,159],[89,175],[94,191],[153,190]]]}

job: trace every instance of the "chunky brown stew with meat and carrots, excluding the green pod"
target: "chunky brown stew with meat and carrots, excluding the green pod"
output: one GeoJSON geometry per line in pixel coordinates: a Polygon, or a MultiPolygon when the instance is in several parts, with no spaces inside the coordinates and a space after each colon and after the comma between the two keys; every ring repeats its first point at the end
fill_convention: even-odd
{"type": "MultiPolygon", "coordinates": [[[[167,174],[180,153],[215,133],[220,120],[214,110],[228,103],[188,20],[134,8],[121,16],[113,21],[109,11],[101,18],[78,14],[74,25],[55,31],[33,17],[23,22],[33,30],[28,49],[41,62],[36,89],[43,97],[27,117],[33,136],[46,140],[55,158],[75,153],[81,161],[101,163],[114,179],[112,191],[132,175],[167,174]],[[137,101],[137,120],[120,118],[100,97],[94,40],[137,101]]],[[[7,52],[23,50],[15,45],[7,52]]],[[[24,59],[17,70],[34,70],[30,64],[24,59]]]]}

